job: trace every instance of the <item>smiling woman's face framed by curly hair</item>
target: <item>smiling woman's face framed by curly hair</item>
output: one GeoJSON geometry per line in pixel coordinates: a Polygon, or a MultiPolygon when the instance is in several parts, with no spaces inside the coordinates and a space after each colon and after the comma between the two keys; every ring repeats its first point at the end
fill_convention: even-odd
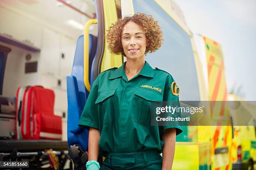
{"type": "Polygon", "coordinates": [[[124,25],[121,42],[127,58],[144,57],[147,40],[145,33],[138,24],[128,22],[124,25]]]}

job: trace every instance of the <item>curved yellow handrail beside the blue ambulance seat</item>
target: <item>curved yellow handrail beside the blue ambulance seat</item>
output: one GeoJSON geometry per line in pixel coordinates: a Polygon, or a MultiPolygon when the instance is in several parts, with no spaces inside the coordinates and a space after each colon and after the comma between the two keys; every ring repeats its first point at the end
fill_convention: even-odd
{"type": "Polygon", "coordinates": [[[84,25],[84,85],[90,92],[89,82],[89,27],[91,24],[97,24],[97,19],[88,20],[84,25]]]}

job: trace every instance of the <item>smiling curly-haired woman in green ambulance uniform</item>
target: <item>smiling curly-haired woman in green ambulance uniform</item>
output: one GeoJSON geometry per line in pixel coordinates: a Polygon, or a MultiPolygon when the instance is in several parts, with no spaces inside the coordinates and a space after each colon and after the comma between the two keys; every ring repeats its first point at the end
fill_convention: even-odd
{"type": "Polygon", "coordinates": [[[144,60],[161,47],[162,35],[157,21],[142,13],[119,19],[109,28],[108,48],[127,61],[98,75],[82,112],[79,126],[89,130],[88,169],[100,168],[99,152],[106,158],[103,170],[172,168],[181,127],[151,126],[149,108],[151,102],[179,97],[171,90],[172,76],[144,60]]]}

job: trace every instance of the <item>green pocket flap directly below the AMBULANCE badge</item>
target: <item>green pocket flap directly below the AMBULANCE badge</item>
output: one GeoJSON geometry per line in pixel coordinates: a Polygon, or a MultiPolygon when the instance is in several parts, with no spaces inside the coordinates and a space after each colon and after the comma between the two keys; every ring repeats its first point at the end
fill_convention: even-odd
{"type": "Polygon", "coordinates": [[[149,101],[162,101],[163,96],[154,90],[148,90],[143,88],[138,88],[135,90],[134,94],[149,100],[149,101]]]}

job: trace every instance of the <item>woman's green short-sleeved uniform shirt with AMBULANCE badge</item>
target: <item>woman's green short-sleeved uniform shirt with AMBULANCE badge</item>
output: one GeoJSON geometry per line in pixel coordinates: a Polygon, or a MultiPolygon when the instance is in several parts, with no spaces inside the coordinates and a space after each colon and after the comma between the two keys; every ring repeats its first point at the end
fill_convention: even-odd
{"type": "Polygon", "coordinates": [[[152,101],[179,101],[179,97],[172,94],[172,76],[145,62],[141,72],[128,81],[125,63],[97,76],[79,120],[80,127],[99,129],[102,156],[151,149],[161,151],[165,129],[176,128],[177,135],[182,133],[179,125],[151,126],[152,101]]]}

